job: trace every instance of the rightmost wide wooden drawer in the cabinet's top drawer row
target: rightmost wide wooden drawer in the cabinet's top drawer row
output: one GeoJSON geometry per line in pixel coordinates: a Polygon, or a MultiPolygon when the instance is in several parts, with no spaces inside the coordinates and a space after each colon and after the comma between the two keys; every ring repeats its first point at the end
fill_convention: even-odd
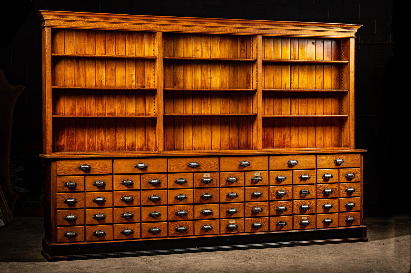
{"type": "Polygon", "coordinates": [[[317,168],[356,168],[361,166],[360,154],[317,155],[317,168]]]}

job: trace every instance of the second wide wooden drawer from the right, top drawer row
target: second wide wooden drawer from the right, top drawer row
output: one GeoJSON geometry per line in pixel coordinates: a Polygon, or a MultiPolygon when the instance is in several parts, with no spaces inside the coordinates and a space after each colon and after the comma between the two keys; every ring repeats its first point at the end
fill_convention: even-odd
{"type": "Polygon", "coordinates": [[[270,156],[270,170],[289,169],[315,169],[315,155],[270,156]]]}

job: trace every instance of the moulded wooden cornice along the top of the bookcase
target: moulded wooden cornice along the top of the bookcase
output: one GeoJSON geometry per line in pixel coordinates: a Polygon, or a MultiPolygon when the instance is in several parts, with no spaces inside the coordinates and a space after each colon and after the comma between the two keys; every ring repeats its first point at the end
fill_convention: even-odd
{"type": "Polygon", "coordinates": [[[38,11],[42,27],[355,38],[361,25],[38,11]]]}

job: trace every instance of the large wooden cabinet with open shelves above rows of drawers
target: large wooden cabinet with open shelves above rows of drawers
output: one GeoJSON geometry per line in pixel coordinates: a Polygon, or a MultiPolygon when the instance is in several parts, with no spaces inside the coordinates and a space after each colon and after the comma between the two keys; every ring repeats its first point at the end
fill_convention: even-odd
{"type": "Polygon", "coordinates": [[[360,25],[38,16],[44,257],[367,240],[360,25]]]}

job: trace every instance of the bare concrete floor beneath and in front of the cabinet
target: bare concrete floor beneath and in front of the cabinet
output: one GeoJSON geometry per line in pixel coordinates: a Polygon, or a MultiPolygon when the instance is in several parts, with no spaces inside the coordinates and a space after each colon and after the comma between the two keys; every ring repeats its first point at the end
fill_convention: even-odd
{"type": "Polygon", "coordinates": [[[46,262],[43,218],[16,217],[0,229],[0,272],[410,272],[410,220],[365,218],[361,243],[46,262]]]}

